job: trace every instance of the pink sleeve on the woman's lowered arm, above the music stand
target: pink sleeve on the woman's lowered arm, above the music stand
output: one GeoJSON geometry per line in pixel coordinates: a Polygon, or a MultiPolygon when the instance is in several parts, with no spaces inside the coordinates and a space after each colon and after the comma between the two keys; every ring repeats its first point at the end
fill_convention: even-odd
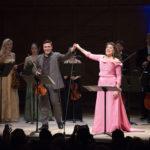
{"type": "Polygon", "coordinates": [[[117,76],[117,85],[121,85],[121,76],[122,76],[122,63],[120,61],[115,62],[116,76],[117,76]]]}

